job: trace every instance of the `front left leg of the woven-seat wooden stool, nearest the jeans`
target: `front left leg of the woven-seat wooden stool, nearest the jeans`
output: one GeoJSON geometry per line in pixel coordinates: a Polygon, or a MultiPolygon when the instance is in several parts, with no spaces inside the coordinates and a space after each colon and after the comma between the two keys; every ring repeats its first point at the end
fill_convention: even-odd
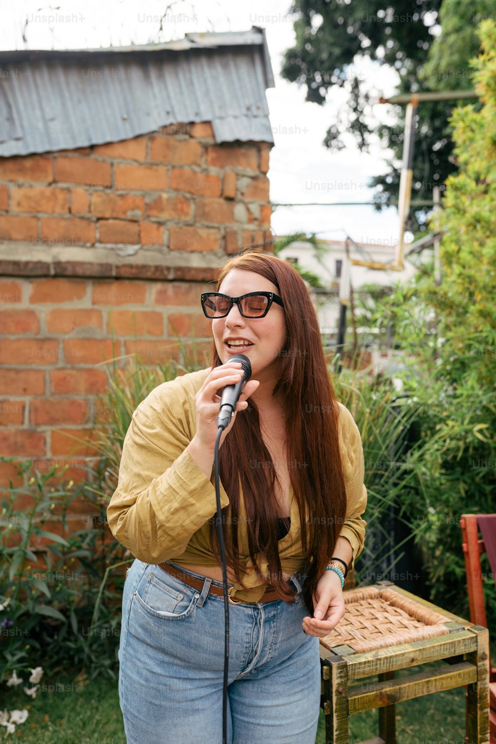
{"type": "Polygon", "coordinates": [[[328,657],[328,661],[329,675],[324,674],[323,682],[326,744],[350,744],[347,663],[342,656],[328,657]]]}

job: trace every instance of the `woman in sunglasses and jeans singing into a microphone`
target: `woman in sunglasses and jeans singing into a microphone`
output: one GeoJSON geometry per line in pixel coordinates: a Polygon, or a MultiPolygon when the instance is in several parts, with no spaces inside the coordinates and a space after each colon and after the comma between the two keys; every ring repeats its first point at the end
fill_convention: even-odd
{"type": "Polygon", "coordinates": [[[228,740],[314,744],[319,638],[344,615],[344,575],[364,545],[360,434],[335,400],[309,292],[289,263],[234,257],[202,308],[213,364],[158,385],[138,405],[108,507],[112,533],[136,558],[119,649],[127,742],[222,741],[213,451],[219,394],[240,379],[228,359],[243,353],[251,379],[219,446],[228,740]]]}

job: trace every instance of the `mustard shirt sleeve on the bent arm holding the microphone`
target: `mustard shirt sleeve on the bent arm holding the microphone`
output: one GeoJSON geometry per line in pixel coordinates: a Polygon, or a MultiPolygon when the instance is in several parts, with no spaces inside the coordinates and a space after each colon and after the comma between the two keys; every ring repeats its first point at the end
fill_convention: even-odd
{"type": "MultiPolygon", "coordinates": [[[[186,449],[196,431],[189,405],[181,385],[162,383],[138,405],[124,438],[107,519],[115,538],[145,563],[183,553],[216,514],[213,474],[209,480],[186,449]]],[[[222,484],[220,503],[229,504],[222,484]]]]}

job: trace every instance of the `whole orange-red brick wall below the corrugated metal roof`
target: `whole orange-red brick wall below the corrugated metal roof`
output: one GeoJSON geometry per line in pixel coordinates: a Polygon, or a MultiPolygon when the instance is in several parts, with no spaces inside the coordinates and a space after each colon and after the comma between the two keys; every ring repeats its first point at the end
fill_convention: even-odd
{"type": "MultiPolygon", "coordinates": [[[[210,347],[199,295],[212,288],[224,257],[271,240],[269,149],[215,144],[202,123],[74,152],[0,158],[1,455],[30,458],[41,472],[65,462],[65,478],[81,480],[78,466],[97,461],[91,429],[112,333],[115,356],[138,353],[150,366],[177,358],[176,333],[188,350],[193,338],[200,354],[210,347]],[[29,260],[19,258],[16,241],[29,260]],[[57,245],[87,253],[64,261],[58,251],[47,260],[46,246],[57,245]],[[118,245],[141,246],[135,263],[117,253],[93,260],[97,248],[118,245]],[[143,246],[169,260],[146,264],[143,246]],[[204,257],[195,261],[205,252],[210,269],[204,257]]],[[[0,463],[0,484],[9,478],[19,485],[16,469],[0,463]]],[[[22,496],[16,506],[28,503],[22,496]]],[[[74,503],[69,528],[81,529],[89,516],[86,504],[74,503]]],[[[60,533],[57,514],[51,519],[48,529],[60,533]]]]}

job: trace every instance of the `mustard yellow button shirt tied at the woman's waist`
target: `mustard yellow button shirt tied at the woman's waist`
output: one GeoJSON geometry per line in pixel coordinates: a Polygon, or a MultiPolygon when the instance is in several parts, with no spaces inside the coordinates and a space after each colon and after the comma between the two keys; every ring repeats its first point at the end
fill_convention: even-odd
{"type": "MultiPolygon", "coordinates": [[[[145,563],[155,565],[167,560],[175,565],[220,565],[213,558],[208,539],[209,520],[217,511],[214,469],[209,480],[187,451],[196,432],[195,395],[207,374],[204,369],[158,385],[135,409],[126,432],[117,489],[109,501],[107,519],[115,538],[145,563]]],[[[367,522],[361,514],[367,505],[367,489],[358,426],[342,403],[338,432],[347,493],[347,514],[340,534],[352,545],[353,568],[364,548],[367,522]]],[[[228,506],[229,497],[222,482],[219,485],[223,508],[228,506]]],[[[291,528],[279,542],[279,555],[282,571],[294,574],[303,571],[306,559],[291,487],[289,495],[291,528]]],[[[265,585],[260,584],[250,559],[242,498],[239,504],[239,557],[246,565],[242,578],[249,589],[233,584],[228,594],[238,600],[257,602],[265,585]]],[[[269,578],[265,556],[256,554],[256,559],[263,575],[269,578]]]]}

